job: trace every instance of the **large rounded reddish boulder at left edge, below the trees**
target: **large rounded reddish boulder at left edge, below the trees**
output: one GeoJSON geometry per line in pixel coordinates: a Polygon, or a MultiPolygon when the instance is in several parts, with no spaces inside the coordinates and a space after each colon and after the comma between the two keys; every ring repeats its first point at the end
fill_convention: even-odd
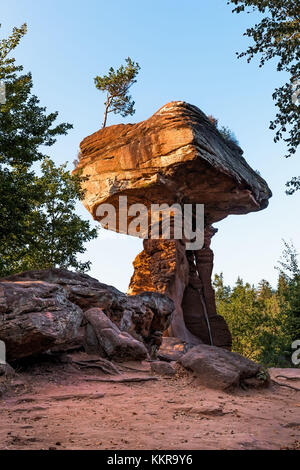
{"type": "Polygon", "coordinates": [[[45,281],[0,282],[0,339],[7,360],[20,359],[73,339],[81,309],[63,288],[45,281]]]}

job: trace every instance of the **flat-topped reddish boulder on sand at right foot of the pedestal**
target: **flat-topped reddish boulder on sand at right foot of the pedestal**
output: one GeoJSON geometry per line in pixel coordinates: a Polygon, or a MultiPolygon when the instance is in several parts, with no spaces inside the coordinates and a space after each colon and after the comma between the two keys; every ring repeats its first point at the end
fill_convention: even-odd
{"type": "Polygon", "coordinates": [[[222,390],[256,378],[261,370],[259,364],[240,354],[206,344],[190,349],[178,362],[195,372],[204,386],[222,390]]]}

